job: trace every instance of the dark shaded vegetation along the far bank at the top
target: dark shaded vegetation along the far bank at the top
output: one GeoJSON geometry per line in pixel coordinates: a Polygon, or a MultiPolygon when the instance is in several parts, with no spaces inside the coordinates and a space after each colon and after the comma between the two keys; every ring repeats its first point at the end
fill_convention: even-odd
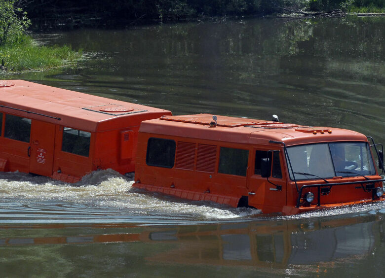
{"type": "Polygon", "coordinates": [[[18,0],[38,30],[127,28],[237,17],[322,16],[311,13],[385,13],[385,0],[18,0]],[[289,12],[289,10],[291,12],[289,12]],[[306,16],[302,14],[302,16],[306,16]]]}

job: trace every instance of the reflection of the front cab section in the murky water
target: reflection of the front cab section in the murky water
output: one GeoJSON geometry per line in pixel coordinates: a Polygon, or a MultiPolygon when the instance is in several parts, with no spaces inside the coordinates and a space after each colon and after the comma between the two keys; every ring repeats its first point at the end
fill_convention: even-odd
{"type": "MultiPolygon", "coordinates": [[[[378,231],[372,221],[349,220],[344,226],[335,220],[310,221],[306,225],[282,221],[276,225],[223,224],[152,232],[150,240],[178,241],[178,245],[186,243],[190,247],[149,259],[163,263],[285,267],[369,255],[375,246],[375,235],[384,237],[384,232],[378,231]]],[[[383,223],[380,225],[382,228],[383,223]]]]}

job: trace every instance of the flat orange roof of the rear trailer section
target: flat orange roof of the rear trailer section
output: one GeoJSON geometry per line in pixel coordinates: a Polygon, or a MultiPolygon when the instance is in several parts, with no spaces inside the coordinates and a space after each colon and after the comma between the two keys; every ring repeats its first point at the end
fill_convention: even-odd
{"type": "Polygon", "coordinates": [[[7,113],[42,119],[91,132],[138,126],[142,120],[170,114],[169,111],[163,109],[24,80],[0,81],[0,109],[7,113]],[[15,108],[60,118],[60,120],[33,113],[16,112],[15,108]]]}

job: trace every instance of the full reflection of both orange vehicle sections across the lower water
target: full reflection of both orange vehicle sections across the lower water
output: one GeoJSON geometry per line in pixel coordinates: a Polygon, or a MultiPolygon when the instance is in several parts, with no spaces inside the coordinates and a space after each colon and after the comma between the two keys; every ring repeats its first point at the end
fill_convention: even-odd
{"type": "MultiPolygon", "coordinates": [[[[155,252],[146,253],[145,259],[155,264],[286,268],[288,265],[312,265],[342,259],[354,261],[370,256],[376,247],[385,243],[382,218],[382,213],[376,213],[345,219],[255,221],[175,227],[132,224],[5,225],[0,228],[0,246],[154,244],[159,246],[153,247],[155,252]],[[19,229],[22,229],[22,233],[15,237],[15,231],[19,229]],[[34,236],[25,237],[24,234],[34,236]],[[168,247],[164,248],[166,245],[168,247]]],[[[104,246],[110,248],[112,245],[104,246]]],[[[11,249],[9,251],[12,252],[11,249]]]]}

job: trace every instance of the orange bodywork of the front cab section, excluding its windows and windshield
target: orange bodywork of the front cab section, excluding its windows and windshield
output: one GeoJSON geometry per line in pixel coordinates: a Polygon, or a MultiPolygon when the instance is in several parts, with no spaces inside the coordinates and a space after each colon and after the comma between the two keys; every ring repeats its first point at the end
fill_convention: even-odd
{"type": "MultiPolygon", "coordinates": [[[[248,205],[259,208],[264,213],[293,214],[310,209],[384,200],[384,197],[373,197],[372,192],[375,189],[364,190],[359,183],[353,184],[353,182],[365,183],[368,179],[381,180],[377,170],[374,175],[366,177],[328,178],[327,181],[318,178],[299,180],[297,182],[299,190],[304,185],[325,183],[325,186],[319,186],[324,190],[327,182],[347,183],[334,185],[329,192],[319,193],[319,205],[316,204],[317,188],[306,188],[299,196],[296,184],[289,176],[283,145],[352,141],[367,144],[368,140],[362,134],[336,128],[308,127],[225,116],[218,116],[215,125],[212,116],[207,114],[164,116],[142,122],[138,137],[136,180],[133,186],[184,199],[208,200],[232,207],[248,205]],[[151,140],[175,145],[175,155],[169,164],[156,165],[157,162],[152,162],[152,148],[149,147],[151,140]],[[228,149],[247,153],[245,172],[234,174],[231,169],[223,170],[226,167],[221,166],[224,162],[220,153],[228,149]],[[280,161],[280,174],[267,179],[257,173],[255,164],[258,161],[256,157],[258,151],[277,153],[274,159],[280,161]],[[350,182],[352,184],[349,184],[350,182]],[[312,192],[315,196],[315,201],[311,204],[303,201],[307,192],[312,192]],[[301,199],[300,206],[297,207],[299,199],[301,199]]],[[[233,167],[236,167],[236,164],[233,167]]],[[[376,182],[374,185],[376,189],[379,186],[382,186],[382,182],[376,182]]]]}

